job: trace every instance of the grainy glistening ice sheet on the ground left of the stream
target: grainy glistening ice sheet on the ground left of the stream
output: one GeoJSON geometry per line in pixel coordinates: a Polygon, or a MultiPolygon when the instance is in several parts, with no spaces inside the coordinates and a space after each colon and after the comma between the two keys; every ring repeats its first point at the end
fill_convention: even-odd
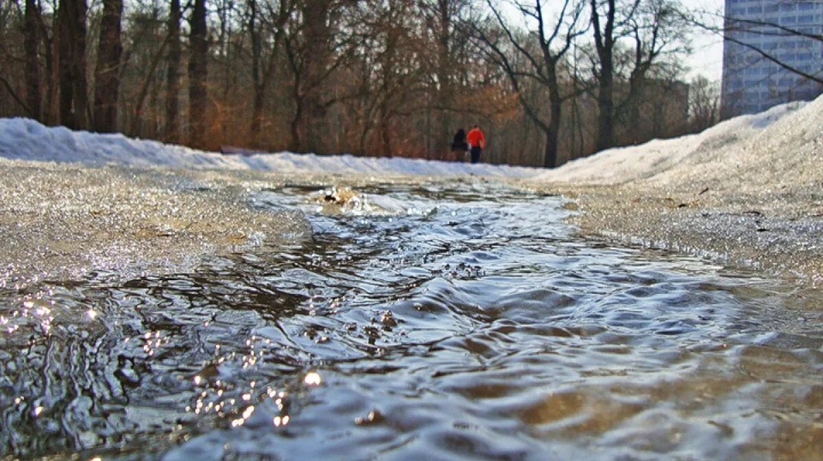
{"type": "MultiPolygon", "coordinates": [[[[216,173],[0,158],[0,289],[93,270],[181,270],[202,255],[311,234],[302,214],[249,206],[236,184],[253,177],[223,171],[212,180],[216,173]]],[[[272,177],[266,186],[282,182],[272,177]]]]}

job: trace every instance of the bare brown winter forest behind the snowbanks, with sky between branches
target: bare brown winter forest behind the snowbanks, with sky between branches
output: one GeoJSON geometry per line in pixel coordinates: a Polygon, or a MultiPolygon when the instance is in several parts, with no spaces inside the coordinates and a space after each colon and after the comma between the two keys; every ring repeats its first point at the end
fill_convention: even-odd
{"type": "Polygon", "coordinates": [[[556,167],[717,122],[679,0],[3,0],[0,117],[190,145],[556,167]]]}

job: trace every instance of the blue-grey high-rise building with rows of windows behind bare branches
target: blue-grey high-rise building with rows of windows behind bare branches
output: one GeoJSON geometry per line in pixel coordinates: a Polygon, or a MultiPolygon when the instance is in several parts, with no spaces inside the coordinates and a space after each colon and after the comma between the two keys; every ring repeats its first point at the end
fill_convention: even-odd
{"type": "Polygon", "coordinates": [[[781,66],[823,78],[823,0],[726,0],[725,16],[723,118],[823,94],[781,66]]]}

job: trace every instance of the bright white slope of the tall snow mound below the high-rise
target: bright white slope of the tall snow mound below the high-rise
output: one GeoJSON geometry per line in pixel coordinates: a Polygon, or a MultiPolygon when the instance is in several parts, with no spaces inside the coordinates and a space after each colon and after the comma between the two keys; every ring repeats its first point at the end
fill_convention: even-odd
{"type": "MultiPolygon", "coordinates": [[[[717,169],[718,162],[728,164],[733,161],[728,159],[729,152],[737,150],[743,143],[758,140],[765,147],[769,144],[765,142],[767,140],[783,139],[793,142],[792,139],[780,136],[779,131],[783,128],[775,130],[774,127],[784,127],[787,123],[796,125],[797,122],[802,122],[797,120],[798,112],[809,112],[798,109],[807,105],[808,109],[815,110],[812,109],[815,107],[820,113],[821,104],[823,99],[808,105],[783,104],[764,113],[732,118],[698,134],[604,150],[533,179],[539,182],[605,185],[635,182],[674,169],[695,169],[700,164],[710,164],[712,167],[697,169],[717,169]]],[[[820,127],[818,121],[818,135],[820,127]]]]}

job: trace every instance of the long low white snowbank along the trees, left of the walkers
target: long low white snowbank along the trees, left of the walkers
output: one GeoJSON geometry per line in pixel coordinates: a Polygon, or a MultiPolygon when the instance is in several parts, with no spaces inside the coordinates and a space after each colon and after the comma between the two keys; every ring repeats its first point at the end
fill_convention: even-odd
{"type": "Polygon", "coordinates": [[[0,118],[0,157],[8,159],[119,164],[135,167],[255,169],[278,173],[366,173],[532,177],[542,170],[490,164],[458,164],[422,159],[375,159],[353,155],[222,155],[180,145],[131,139],[120,134],[44,127],[26,118],[0,118]]]}

